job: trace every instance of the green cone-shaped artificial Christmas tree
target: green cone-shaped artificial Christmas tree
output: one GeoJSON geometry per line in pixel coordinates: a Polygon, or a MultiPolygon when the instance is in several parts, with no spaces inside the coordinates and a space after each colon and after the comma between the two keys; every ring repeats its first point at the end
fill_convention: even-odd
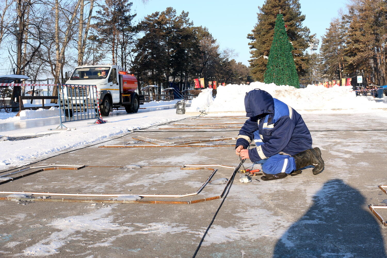
{"type": "Polygon", "coordinates": [[[283,15],[278,14],[276,25],[274,26],[274,37],[270,48],[269,60],[264,74],[265,83],[274,82],[276,85],[289,85],[296,88],[300,86],[296,65],[291,53],[292,50],[293,46],[286,34],[283,15]]]}

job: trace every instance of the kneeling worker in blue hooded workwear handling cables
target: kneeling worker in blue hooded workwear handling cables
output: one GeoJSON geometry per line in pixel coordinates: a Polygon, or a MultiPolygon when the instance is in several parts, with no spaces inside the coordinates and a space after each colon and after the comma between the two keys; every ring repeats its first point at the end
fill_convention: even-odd
{"type": "Polygon", "coordinates": [[[313,174],[324,169],[318,147],[312,149],[312,137],[301,115],[266,91],[255,89],[245,96],[246,116],[250,117],[239,131],[236,155],[262,164],[263,180],[274,180],[288,174],[299,174],[302,167],[314,166],[313,174]],[[247,149],[254,140],[256,148],[247,149]]]}

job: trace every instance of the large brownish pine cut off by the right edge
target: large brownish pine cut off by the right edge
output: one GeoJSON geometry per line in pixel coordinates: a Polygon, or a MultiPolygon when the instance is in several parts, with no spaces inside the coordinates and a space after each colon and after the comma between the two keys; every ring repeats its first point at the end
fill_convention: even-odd
{"type": "Polygon", "coordinates": [[[363,75],[366,84],[387,84],[387,1],[358,1],[349,5],[346,35],[351,75],[363,75]]]}

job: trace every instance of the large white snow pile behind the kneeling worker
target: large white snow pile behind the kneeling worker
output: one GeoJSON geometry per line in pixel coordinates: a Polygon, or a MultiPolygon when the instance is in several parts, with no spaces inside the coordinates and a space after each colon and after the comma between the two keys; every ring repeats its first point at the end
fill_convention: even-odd
{"type": "Polygon", "coordinates": [[[385,103],[375,103],[368,101],[365,97],[356,97],[351,86],[325,88],[322,85],[308,85],[304,89],[296,89],[291,86],[253,82],[250,85],[228,84],[219,86],[215,99],[212,99],[209,91],[204,90],[192,100],[187,112],[199,110],[208,112],[245,111],[246,92],[257,88],[269,92],[273,97],[296,110],[387,108],[385,103]]]}

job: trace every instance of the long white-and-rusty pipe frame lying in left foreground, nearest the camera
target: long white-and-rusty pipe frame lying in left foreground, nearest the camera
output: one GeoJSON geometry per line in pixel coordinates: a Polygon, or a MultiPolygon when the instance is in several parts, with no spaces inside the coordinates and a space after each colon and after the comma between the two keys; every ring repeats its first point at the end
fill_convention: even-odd
{"type": "MultiPolygon", "coordinates": [[[[53,166],[53,165],[48,165],[48,166],[53,166]]],[[[65,166],[69,166],[69,165],[65,165],[65,166]]],[[[47,167],[47,166],[45,166],[47,167]]],[[[82,167],[85,167],[85,166],[82,166],[82,167]]],[[[82,167],[79,167],[78,169],[82,168],[82,167]]],[[[19,191],[0,191],[0,193],[3,193],[3,194],[32,194],[32,195],[55,195],[55,196],[92,196],[92,197],[118,197],[118,196],[131,196],[131,195],[138,195],[138,196],[142,196],[142,197],[187,197],[187,196],[192,196],[192,195],[197,195],[199,194],[203,188],[209,183],[209,181],[211,180],[211,178],[214,176],[214,174],[216,173],[217,169],[213,169],[213,168],[210,168],[210,167],[224,167],[224,168],[229,168],[229,169],[234,169],[235,170],[235,167],[230,167],[230,166],[223,166],[223,165],[219,165],[219,164],[209,164],[209,165],[183,165],[182,167],[180,167],[180,169],[185,169],[185,170],[196,170],[196,169],[207,169],[207,170],[211,170],[212,173],[210,174],[210,176],[207,178],[207,180],[202,184],[202,186],[200,186],[200,188],[194,192],[194,193],[186,193],[186,194],[180,194],[180,195],[148,195],[148,194],[119,194],[119,195],[116,195],[116,194],[79,194],[79,193],[50,193],[50,192],[46,192],[46,193],[43,193],[43,192],[26,192],[26,191],[22,191],[22,192],[19,192],[19,191]]],[[[55,169],[55,168],[51,168],[51,169],[55,169]]],[[[48,170],[48,169],[46,169],[48,170]]],[[[39,170],[39,171],[34,171],[30,174],[33,174],[33,173],[38,173],[40,171],[43,171],[43,170],[39,170]]],[[[17,171],[18,172],[18,171],[17,171]]],[[[235,173],[233,173],[235,174],[235,173]]],[[[23,175],[24,176],[24,175],[23,175]]],[[[21,176],[21,177],[23,177],[21,176]]],[[[233,176],[233,175],[232,175],[233,176]]],[[[232,177],[231,176],[231,177],[232,177]]],[[[231,177],[229,178],[228,180],[228,183],[226,184],[226,187],[229,185],[229,182],[231,182],[231,177]]],[[[11,179],[9,179],[11,180],[11,179]]],[[[7,181],[9,181],[7,180],[7,181]]],[[[4,181],[3,183],[6,183],[7,181],[4,181]]],[[[224,191],[226,190],[226,187],[225,189],[223,190],[222,192],[222,195],[219,195],[219,196],[214,196],[214,197],[219,197],[221,198],[221,196],[223,196],[223,193],[224,191]]],[[[197,202],[205,202],[205,199],[207,200],[214,200],[214,199],[218,199],[218,198],[214,198],[214,197],[211,197],[211,198],[204,198],[204,199],[200,199],[201,201],[199,200],[195,200],[197,202]]],[[[41,200],[40,198],[10,198],[10,197],[2,197],[0,198],[0,200],[10,200],[10,199],[17,199],[17,200],[22,200],[22,199],[26,199],[26,200],[41,200]]],[[[62,199],[51,199],[51,200],[57,200],[57,201],[62,201],[64,202],[64,198],[62,199]]],[[[74,202],[73,199],[66,199],[68,202],[74,202]]],[[[89,202],[89,200],[78,200],[79,202],[89,202]]],[[[106,201],[106,202],[111,202],[112,200],[98,200],[98,201],[106,201]]],[[[187,201],[187,202],[183,202],[182,203],[184,204],[191,204],[191,203],[195,203],[195,201],[187,201]],[[189,202],[189,203],[188,203],[189,202]]],[[[116,201],[117,203],[119,201],[116,201]]],[[[129,201],[127,201],[129,203],[129,201]]],[[[131,202],[137,202],[137,201],[131,201],[131,202]]],[[[166,202],[170,202],[170,201],[142,201],[142,203],[154,203],[154,202],[160,202],[160,203],[166,203],[166,202]]],[[[175,202],[175,201],[173,201],[175,202]]]]}

